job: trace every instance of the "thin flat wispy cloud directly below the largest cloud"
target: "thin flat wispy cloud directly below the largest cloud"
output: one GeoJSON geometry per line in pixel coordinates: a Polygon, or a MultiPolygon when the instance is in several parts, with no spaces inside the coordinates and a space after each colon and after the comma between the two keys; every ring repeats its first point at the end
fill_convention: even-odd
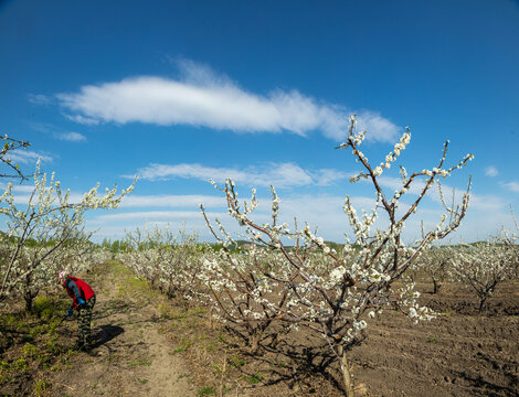
{"type": "MultiPolygon", "coordinates": [[[[208,181],[210,179],[223,182],[231,178],[234,182],[247,185],[290,187],[329,185],[335,181],[343,180],[350,173],[332,170],[305,170],[295,163],[266,163],[261,167],[237,168],[213,168],[201,164],[150,164],[138,170],[140,179],[145,180],[170,180],[174,178],[198,179],[208,181]]],[[[127,178],[134,178],[126,175],[127,178]]]]}

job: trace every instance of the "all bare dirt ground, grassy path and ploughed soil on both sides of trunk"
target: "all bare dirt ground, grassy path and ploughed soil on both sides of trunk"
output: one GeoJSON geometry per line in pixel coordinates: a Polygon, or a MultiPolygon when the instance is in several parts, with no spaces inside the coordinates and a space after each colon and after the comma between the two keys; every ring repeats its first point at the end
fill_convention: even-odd
{"type": "MultiPolygon", "coordinates": [[[[277,351],[252,355],[204,309],[179,308],[120,264],[87,279],[97,292],[92,354],[61,353],[66,364],[43,373],[49,387],[40,394],[40,374],[21,373],[0,395],[342,396],[337,368],[321,365],[327,346],[311,347],[320,337],[303,331],[282,339],[277,351]]],[[[519,282],[500,286],[484,314],[457,285],[437,294],[427,293],[428,283],[417,289],[422,304],[441,315],[415,324],[386,311],[370,322],[366,341],[350,352],[357,395],[518,396],[519,282]]],[[[76,326],[61,325],[60,341],[72,345],[76,326]]]]}

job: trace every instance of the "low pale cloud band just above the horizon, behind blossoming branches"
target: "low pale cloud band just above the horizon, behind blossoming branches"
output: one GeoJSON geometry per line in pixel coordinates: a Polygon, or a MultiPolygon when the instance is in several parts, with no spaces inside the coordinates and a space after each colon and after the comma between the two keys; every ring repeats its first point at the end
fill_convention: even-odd
{"type": "MultiPolygon", "coordinates": [[[[361,210],[370,211],[374,204],[374,197],[351,196],[350,197],[358,214],[361,210]]],[[[271,198],[268,196],[257,197],[260,205],[251,215],[258,224],[271,222],[271,198]]],[[[226,213],[225,201],[218,193],[213,195],[129,195],[121,203],[121,208],[109,213],[93,213],[89,218],[89,228],[100,228],[100,237],[120,238],[125,230],[144,227],[148,224],[171,225],[177,229],[186,225],[188,229],[194,229],[204,240],[213,240],[205,222],[198,208],[198,204],[204,203],[211,222],[218,217],[227,232],[244,233],[237,226],[235,219],[226,213]],[[133,211],[138,208],[139,211],[133,211]],[[163,210],[162,210],[163,208],[163,210]]],[[[318,226],[318,235],[325,239],[343,242],[345,233],[352,238],[348,217],[343,213],[342,205],[345,196],[329,194],[280,194],[279,223],[288,223],[294,228],[294,217],[297,217],[298,227],[303,228],[308,223],[311,228],[318,226]]],[[[407,204],[401,203],[400,213],[407,210],[407,204]]],[[[406,222],[404,239],[410,243],[421,236],[421,223],[424,222],[426,230],[436,226],[445,211],[438,203],[431,201],[422,202],[419,212],[413,214],[406,222]]],[[[379,210],[380,218],[377,227],[384,228],[388,225],[388,216],[383,210],[379,210]]],[[[470,207],[466,218],[462,222],[458,232],[451,235],[444,243],[464,240],[477,240],[499,230],[501,225],[511,224],[509,210],[499,196],[472,195],[470,207]],[[489,216],[488,214],[491,214],[489,216]]],[[[236,235],[235,235],[236,237],[236,235]]],[[[240,238],[240,237],[236,237],[240,238]]]]}

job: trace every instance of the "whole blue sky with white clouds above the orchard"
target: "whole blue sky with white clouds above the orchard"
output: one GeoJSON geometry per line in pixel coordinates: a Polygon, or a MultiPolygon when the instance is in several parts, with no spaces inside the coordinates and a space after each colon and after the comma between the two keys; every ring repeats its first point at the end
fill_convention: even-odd
{"type": "MultiPolygon", "coordinates": [[[[208,180],[232,176],[243,197],[257,187],[260,222],[273,184],[283,219],[342,242],[346,194],[359,211],[373,197],[333,149],[357,114],[375,164],[405,126],[410,171],[435,167],[446,139],[448,163],[473,152],[444,183],[460,192],[473,175],[455,238],[483,239],[519,212],[518,41],[513,1],[3,1],[0,132],[32,143],[24,170],[42,157],[74,194],[139,175],[119,210],[88,216],[97,239],[147,223],[209,239],[198,204],[225,219],[208,180]]],[[[384,176],[392,192],[398,174],[384,176]]]]}

